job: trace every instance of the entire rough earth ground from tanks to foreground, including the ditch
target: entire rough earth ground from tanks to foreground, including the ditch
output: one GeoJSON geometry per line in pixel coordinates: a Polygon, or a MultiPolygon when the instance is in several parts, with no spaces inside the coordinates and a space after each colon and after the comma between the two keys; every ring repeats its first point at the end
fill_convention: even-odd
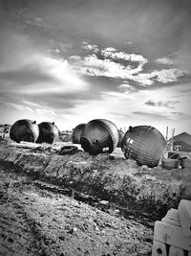
{"type": "Polygon", "coordinates": [[[1,142],[0,255],[151,255],[155,221],[191,199],[191,170],[65,145],[1,142]]]}

